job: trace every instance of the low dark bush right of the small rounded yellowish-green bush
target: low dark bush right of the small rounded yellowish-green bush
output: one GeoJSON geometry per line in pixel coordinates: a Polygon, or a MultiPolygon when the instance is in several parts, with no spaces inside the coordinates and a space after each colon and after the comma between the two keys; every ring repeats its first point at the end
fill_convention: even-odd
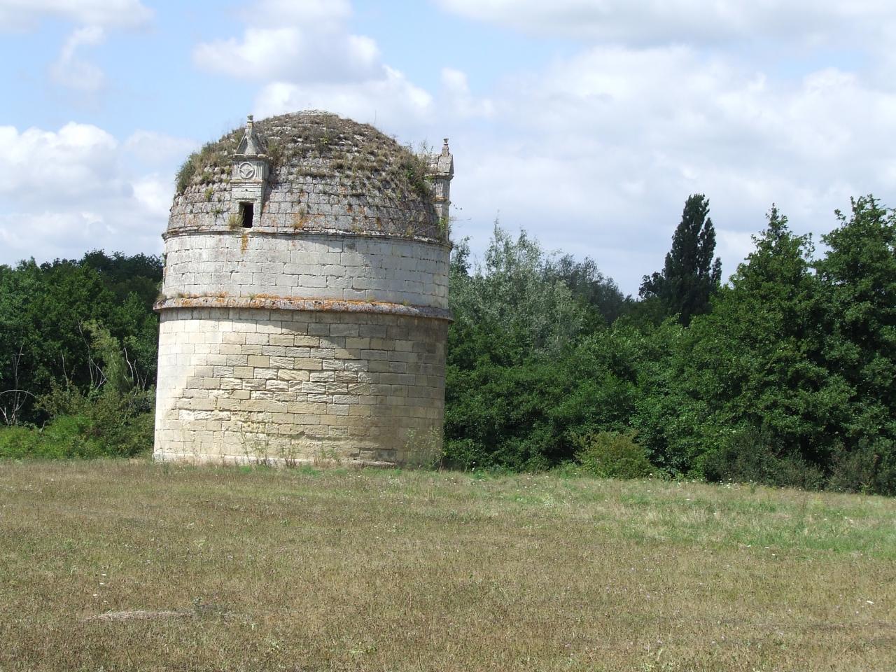
{"type": "Polygon", "coordinates": [[[754,428],[732,435],[722,446],[702,456],[703,477],[710,482],[761,483],[774,487],[823,487],[822,470],[788,453],[780,442],[754,428]]]}

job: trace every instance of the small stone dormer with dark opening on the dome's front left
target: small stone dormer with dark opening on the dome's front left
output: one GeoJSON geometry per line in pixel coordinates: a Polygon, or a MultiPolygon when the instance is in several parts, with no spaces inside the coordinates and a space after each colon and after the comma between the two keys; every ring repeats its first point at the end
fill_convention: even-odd
{"type": "Polygon", "coordinates": [[[255,132],[253,117],[249,115],[246,133],[232,157],[230,176],[231,221],[238,222],[242,228],[252,228],[262,214],[264,188],[271,165],[265,152],[265,143],[255,132]]]}

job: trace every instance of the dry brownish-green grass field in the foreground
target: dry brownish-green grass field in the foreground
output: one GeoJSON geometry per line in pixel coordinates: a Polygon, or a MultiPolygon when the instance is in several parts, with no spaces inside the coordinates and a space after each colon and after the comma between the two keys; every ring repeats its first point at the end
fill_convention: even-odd
{"type": "Polygon", "coordinates": [[[890,672],[896,501],[0,463],[0,670],[25,669],[890,672]]]}

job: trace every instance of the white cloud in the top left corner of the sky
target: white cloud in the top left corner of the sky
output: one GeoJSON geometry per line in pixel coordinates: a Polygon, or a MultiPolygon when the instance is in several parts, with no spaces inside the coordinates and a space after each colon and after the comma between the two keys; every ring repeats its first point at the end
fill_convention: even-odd
{"type": "Polygon", "coordinates": [[[149,22],[152,14],[140,0],[0,0],[0,31],[32,29],[45,18],[136,28],[149,22]]]}

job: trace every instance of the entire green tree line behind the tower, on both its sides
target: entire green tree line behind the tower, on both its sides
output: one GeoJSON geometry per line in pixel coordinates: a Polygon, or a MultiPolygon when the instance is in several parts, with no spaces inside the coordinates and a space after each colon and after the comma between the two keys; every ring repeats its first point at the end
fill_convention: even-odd
{"type": "MultiPolygon", "coordinates": [[[[772,207],[722,284],[709,212],[687,199],[637,299],[525,232],[456,243],[444,463],[896,494],[896,213],[854,200],[819,255],[772,207]]],[[[149,449],[160,280],[142,254],[0,266],[0,455],[149,449]]]]}

